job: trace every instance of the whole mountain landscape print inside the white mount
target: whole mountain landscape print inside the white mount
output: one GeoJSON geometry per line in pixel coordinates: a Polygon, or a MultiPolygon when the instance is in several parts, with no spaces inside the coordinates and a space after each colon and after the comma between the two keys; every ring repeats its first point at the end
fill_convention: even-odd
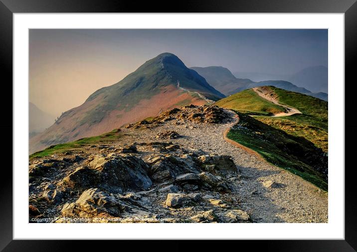
{"type": "Polygon", "coordinates": [[[327,38],[30,29],[28,222],[328,223],[327,38]]]}

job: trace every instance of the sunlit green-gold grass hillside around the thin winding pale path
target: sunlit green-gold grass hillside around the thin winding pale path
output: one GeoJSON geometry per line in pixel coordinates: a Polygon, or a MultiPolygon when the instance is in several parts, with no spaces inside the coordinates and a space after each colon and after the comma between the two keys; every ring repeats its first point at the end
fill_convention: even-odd
{"type": "Polygon", "coordinates": [[[274,104],[259,96],[253,89],[221,99],[215,105],[240,111],[286,133],[304,137],[328,152],[328,103],[326,101],[287,91],[276,87],[260,87],[271,92],[281,105],[298,109],[302,114],[274,117],[273,114],[284,111],[284,107],[274,104]]]}

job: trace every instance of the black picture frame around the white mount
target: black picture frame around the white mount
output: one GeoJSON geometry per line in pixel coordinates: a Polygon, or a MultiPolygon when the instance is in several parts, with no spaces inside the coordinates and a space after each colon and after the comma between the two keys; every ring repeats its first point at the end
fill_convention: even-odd
{"type": "MultiPolygon", "coordinates": [[[[357,60],[357,3],[356,0],[191,0],[162,1],[124,1],[124,0],[0,0],[0,72],[2,91],[3,161],[0,182],[0,251],[70,251],[79,245],[83,251],[98,251],[112,246],[135,246],[133,241],[19,241],[12,239],[12,14],[42,12],[311,12],[345,13],[345,239],[346,240],[293,240],[293,241],[234,241],[237,249],[249,248],[264,251],[291,252],[353,252],[357,250],[357,201],[356,172],[352,158],[356,153],[357,122],[352,116],[355,112],[352,96],[357,60]],[[351,82],[351,83],[350,83],[351,82]],[[349,97],[351,96],[351,97],[349,97]],[[351,98],[351,99],[350,99],[351,98]],[[10,144],[11,143],[11,144],[10,144]],[[11,155],[10,155],[11,149],[11,155]],[[7,155],[6,155],[7,154],[7,155]],[[7,162],[6,162],[7,161],[7,162]],[[103,244],[105,243],[105,247],[103,244]],[[239,244],[239,245],[237,245],[239,244]]],[[[26,143],[26,141],[24,140],[26,143]]],[[[16,151],[16,150],[13,150],[16,151]]],[[[343,169],[343,167],[341,167],[343,169]]],[[[46,227],[43,226],[45,229],[46,227]]],[[[272,231],[274,232],[274,231],[272,231]]],[[[143,248],[154,248],[152,241],[143,241],[143,248]]],[[[170,245],[161,242],[155,250],[182,251],[190,248],[189,241],[174,241],[170,245]]],[[[231,242],[227,242],[231,243],[231,242]]],[[[204,246],[217,245],[206,241],[204,246]]],[[[228,246],[231,244],[228,244],[228,246]]],[[[124,247],[123,247],[124,246],[124,247]]],[[[202,246],[202,245],[200,245],[202,246]]],[[[226,246],[226,245],[225,245],[226,246]]],[[[228,247],[225,247],[228,248],[228,247]]],[[[203,248],[202,248],[203,249],[203,248]]]]}

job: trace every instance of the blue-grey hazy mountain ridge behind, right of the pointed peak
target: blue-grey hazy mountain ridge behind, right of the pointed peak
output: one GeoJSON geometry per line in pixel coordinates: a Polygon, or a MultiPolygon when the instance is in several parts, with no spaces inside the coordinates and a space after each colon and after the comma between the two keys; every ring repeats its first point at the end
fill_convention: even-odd
{"type": "MultiPolygon", "coordinates": [[[[259,87],[259,86],[275,86],[289,91],[299,92],[322,100],[328,100],[328,94],[323,92],[313,93],[312,91],[294,85],[293,83],[285,80],[264,80],[252,81],[250,79],[236,78],[229,69],[221,66],[208,66],[208,67],[191,67],[198,74],[202,75],[207,82],[215,89],[219,90],[225,95],[232,95],[242,90],[259,87]]],[[[309,72],[308,70],[305,71],[309,72]]],[[[302,80],[304,74],[297,74],[295,78],[302,80]],[[300,76],[300,77],[299,77],[300,76]]],[[[323,85],[321,85],[323,86],[323,85]]],[[[327,89],[327,85],[326,85],[327,89]]]]}

